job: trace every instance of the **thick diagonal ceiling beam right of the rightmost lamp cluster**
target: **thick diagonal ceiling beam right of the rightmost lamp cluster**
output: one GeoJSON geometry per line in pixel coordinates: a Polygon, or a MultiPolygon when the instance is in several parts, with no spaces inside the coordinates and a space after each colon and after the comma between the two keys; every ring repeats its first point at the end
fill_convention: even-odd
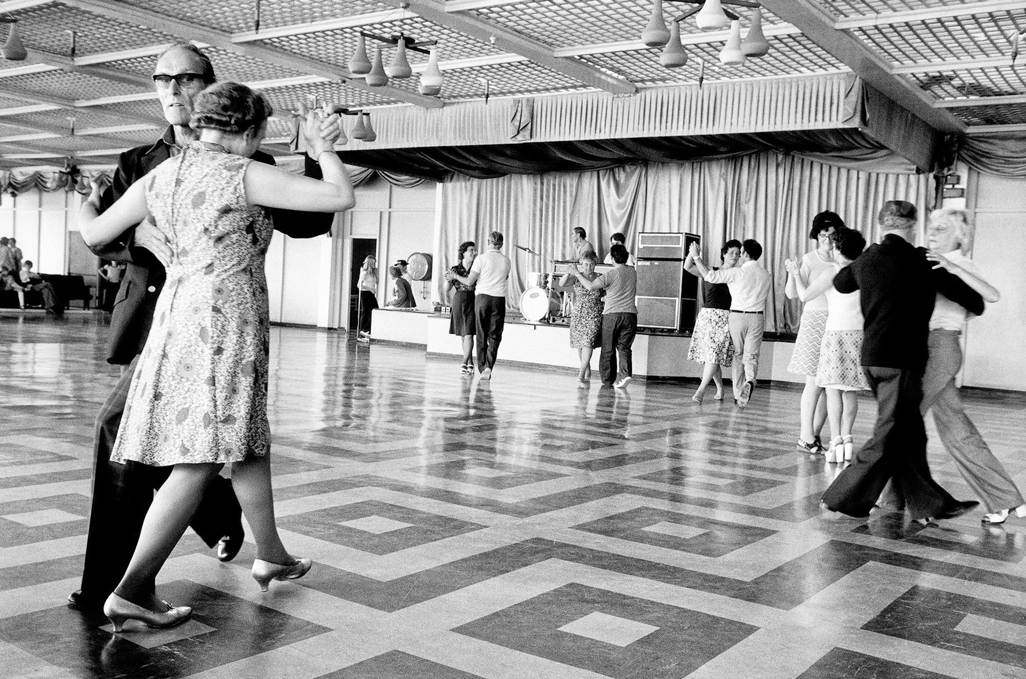
{"type": "Polygon", "coordinates": [[[833,19],[814,0],[762,0],[767,10],[798,28],[862,80],[942,132],[961,132],[965,124],[948,111],[934,108],[936,98],[907,78],[891,74],[892,65],[833,19]]]}

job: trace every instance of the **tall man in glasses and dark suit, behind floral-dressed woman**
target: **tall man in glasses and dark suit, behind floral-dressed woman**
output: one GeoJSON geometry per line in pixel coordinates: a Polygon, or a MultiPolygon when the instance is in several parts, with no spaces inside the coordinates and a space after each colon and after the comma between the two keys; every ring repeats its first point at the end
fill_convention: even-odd
{"type": "MultiPolygon", "coordinates": [[[[192,102],[215,78],[213,66],[203,52],[192,44],[180,43],[158,57],[153,81],[164,117],[170,124],[153,145],[136,147],[121,154],[113,183],[101,198],[104,210],[113,205],[134,182],[177,155],[183,147],[196,138],[189,127],[192,102]]],[[[325,120],[321,136],[332,141],[339,136],[333,119],[325,120]]],[[[305,174],[320,178],[317,163],[304,158],[305,174]]],[[[260,151],[253,159],[274,164],[271,156],[260,151]]],[[[274,209],[272,218],[274,228],[286,236],[311,238],[327,233],[334,215],[274,209]]],[[[121,242],[92,250],[105,259],[127,264],[111,317],[107,358],[109,363],[123,366],[122,375],[96,417],[95,472],[82,589],[69,597],[73,604],[100,608],[127,568],[139,542],[143,519],[153,501],[154,489],[160,487],[172,469],[132,462],[123,465],[110,462],[135,361],[146,345],[157,297],[164,284],[164,267],[170,261],[170,248],[161,231],[153,224],[143,222],[126,233],[121,242]]],[[[230,561],[242,546],[241,516],[231,481],[218,477],[207,489],[191,525],[209,547],[216,547],[219,559],[230,561]]]]}

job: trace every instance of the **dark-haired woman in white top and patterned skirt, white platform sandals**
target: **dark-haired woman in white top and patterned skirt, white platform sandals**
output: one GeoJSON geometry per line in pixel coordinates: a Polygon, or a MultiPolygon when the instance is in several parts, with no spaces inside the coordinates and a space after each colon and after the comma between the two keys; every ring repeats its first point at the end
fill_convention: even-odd
{"type": "Polygon", "coordinates": [[[825,295],[827,301],[827,322],[820,343],[816,384],[826,390],[827,416],[833,436],[826,458],[828,463],[839,463],[852,458],[855,448],[852,428],[859,414],[859,392],[869,389],[869,383],[862,371],[863,319],[859,291],[838,292],[833,279],[838,271],[862,254],[866,239],[858,231],[841,227],[831,240],[834,263],[830,269],[808,286],[798,276],[795,280],[802,302],[818,295],[825,295]]]}

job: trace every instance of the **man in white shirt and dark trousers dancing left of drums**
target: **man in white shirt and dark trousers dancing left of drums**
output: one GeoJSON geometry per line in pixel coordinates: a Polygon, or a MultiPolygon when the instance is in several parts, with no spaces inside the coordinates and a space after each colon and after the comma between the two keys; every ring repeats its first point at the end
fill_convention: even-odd
{"type": "Polygon", "coordinates": [[[513,263],[500,252],[503,235],[498,231],[488,234],[488,251],[477,255],[470,273],[458,276],[445,272],[445,280],[458,280],[464,285],[475,285],[474,315],[477,321],[477,369],[481,380],[491,380],[499,343],[503,341],[506,324],[506,285],[513,263]]]}

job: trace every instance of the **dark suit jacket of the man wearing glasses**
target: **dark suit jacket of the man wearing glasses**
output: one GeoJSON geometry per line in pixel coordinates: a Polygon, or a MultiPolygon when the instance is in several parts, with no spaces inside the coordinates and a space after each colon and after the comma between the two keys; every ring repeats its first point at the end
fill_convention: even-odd
{"type": "MultiPolygon", "coordinates": [[[[174,145],[174,128],[168,127],[164,135],[151,146],[129,149],[118,158],[118,169],[114,179],[101,197],[101,211],[106,210],[120,198],[132,184],[143,178],[150,170],[171,157],[174,145]]],[[[321,178],[320,166],[304,156],[304,174],[321,178]]],[[[258,151],[253,160],[274,165],[274,158],[258,151]]],[[[313,238],[326,234],[331,229],[334,214],[331,212],[303,212],[273,208],[271,218],[276,231],[292,238],[313,238]]],[[[153,312],[157,307],[157,296],[164,285],[164,268],[149,250],[130,246],[134,229],[108,245],[90,248],[104,259],[127,263],[121,288],[114,301],[111,316],[111,335],[108,343],[107,362],[131,363],[143,352],[146,337],[153,324],[153,312]]]]}

